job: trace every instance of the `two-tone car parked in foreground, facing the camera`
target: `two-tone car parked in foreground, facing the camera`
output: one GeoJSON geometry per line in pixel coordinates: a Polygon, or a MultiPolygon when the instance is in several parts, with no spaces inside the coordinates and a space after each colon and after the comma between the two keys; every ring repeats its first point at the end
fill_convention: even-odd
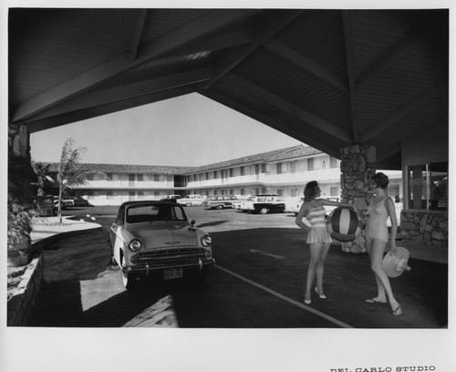
{"type": "Polygon", "coordinates": [[[187,274],[206,278],[212,257],[212,239],[189,222],[176,202],[124,202],[111,224],[109,245],[113,263],[122,270],[130,290],[141,277],[161,273],[166,280],[187,274]]]}

